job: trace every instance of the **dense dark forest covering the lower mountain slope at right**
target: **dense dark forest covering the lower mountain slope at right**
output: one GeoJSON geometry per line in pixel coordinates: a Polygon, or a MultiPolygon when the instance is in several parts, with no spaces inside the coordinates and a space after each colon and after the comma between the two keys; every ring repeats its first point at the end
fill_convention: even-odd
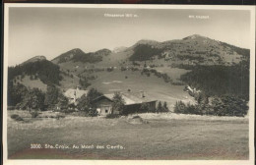
{"type": "Polygon", "coordinates": [[[249,63],[242,61],[234,66],[197,66],[181,81],[206,92],[207,95],[235,95],[249,99],[249,63]]]}

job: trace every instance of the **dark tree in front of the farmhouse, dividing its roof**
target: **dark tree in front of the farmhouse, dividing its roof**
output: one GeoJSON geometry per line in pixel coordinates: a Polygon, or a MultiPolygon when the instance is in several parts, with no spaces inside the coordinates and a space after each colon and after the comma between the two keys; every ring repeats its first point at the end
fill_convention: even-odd
{"type": "Polygon", "coordinates": [[[120,92],[115,92],[113,96],[113,102],[112,102],[112,114],[113,111],[118,111],[119,114],[125,113],[125,101],[122,98],[122,95],[120,92]]]}

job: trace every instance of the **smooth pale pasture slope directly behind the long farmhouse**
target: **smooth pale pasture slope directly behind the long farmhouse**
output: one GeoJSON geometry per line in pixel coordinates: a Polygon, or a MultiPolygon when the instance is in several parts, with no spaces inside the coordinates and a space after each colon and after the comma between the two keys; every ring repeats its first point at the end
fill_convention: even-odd
{"type": "Polygon", "coordinates": [[[172,85],[164,83],[160,78],[151,75],[142,76],[139,71],[113,71],[96,73],[97,79],[92,82],[92,87],[96,87],[103,93],[114,91],[132,92],[143,90],[152,99],[166,101],[170,109],[173,108],[177,100],[184,102],[194,102],[194,98],[183,91],[184,85],[172,85]],[[126,79],[127,78],[127,79],[126,79]]]}

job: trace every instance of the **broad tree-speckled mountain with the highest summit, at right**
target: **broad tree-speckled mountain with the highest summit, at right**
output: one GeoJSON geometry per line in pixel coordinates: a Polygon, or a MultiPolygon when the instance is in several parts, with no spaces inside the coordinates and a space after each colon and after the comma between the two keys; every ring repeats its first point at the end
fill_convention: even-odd
{"type": "Polygon", "coordinates": [[[141,40],[131,48],[131,61],[164,59],[188,65],[233,65],[249,55],[248,49],[198,34],[164,42],[141,40]]]}

